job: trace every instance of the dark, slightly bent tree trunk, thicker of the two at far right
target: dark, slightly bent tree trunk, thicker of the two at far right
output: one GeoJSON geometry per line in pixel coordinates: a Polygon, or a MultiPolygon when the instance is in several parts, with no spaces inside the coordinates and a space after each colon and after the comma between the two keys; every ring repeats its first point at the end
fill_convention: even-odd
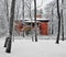
{"type": "Polygon", "coordinates": [[[59,14],[59,0],[57,0],[57,16],[58,16],[58,33],[56,44],[59,43],[59,34],[61,34],[61,14],[59,14]]]}

